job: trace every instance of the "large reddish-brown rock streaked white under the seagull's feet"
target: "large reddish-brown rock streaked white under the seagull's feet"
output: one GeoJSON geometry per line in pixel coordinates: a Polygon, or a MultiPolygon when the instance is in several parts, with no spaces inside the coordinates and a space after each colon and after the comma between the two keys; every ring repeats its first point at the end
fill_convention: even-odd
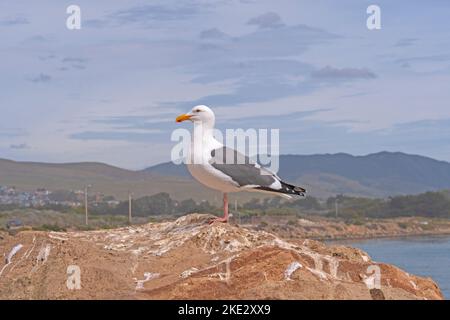
{"type": "Polygon", "coordinates": [[[0,266],[0,299],[443,298],[431,279],[375,263],[361,250],[210,225],[211,218],[7,236],[0,254],[23,247],[0,266]],[[80,289],[67,285],[76,277],[80,289]]]}

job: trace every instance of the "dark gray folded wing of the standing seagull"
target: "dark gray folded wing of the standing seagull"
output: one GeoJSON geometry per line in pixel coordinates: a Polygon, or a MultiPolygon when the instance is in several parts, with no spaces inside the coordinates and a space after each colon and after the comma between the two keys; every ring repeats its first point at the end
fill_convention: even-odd
{"type": "Polygon", "coordinates": [[[210,164],[243,186],[269,187],[277,177],[269,170],[262,168],[249,157],[231,148],[222,147],[211,151],[210,164]]]}

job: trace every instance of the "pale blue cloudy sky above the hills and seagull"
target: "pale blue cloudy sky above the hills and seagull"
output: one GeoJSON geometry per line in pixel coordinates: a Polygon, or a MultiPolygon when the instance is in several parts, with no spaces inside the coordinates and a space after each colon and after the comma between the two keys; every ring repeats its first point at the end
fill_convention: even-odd
{"type": "Polygon", "coordinates": [[[282,154],[450,161],[449,15],[447,0],[0,0],[0,158],[144,168],[205,104],[219,129],[280,129],[282,154]]]}

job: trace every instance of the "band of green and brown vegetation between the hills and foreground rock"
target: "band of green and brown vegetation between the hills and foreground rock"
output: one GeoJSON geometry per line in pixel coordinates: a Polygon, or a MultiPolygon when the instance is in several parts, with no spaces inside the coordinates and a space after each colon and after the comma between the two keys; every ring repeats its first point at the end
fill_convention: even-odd
{"type": "MultiPolygon", "coordinates": [[[[64,194],[62,194],[64,195],[64,194]]],[[[69,195],[70,194],[66,194],[69,195]]],[[[106,198],[111,200],[110,198],[106,198]]],[[[233,203],[233,201],[231,201],[233,203]]],[[[233,205],[230,206],[234,212],[233,205]]],[[[180,216],[192,212],[221,214],[222,208],[208,201],[196,202],[193,199],[177,201],[168,193],[161,192],[133,200],[133,223],[146,223],[180,216]]],[[[395,218],[418,216],[425,218],[450,218],[450,196],[445,192],[426,192],[418,195],[396,196],[388,199],[358,198],[338,195],[326,200],[306,197],[286,201],[280,197],[251,199],[238,206],[239,219],[243,223],[253,221],[260,216],[322,216],[340,219],[348,224],[362,225],[369,218],[395,218]],[[337,208],[337,212],[336,212],[337,208]],[[337,215],[336,215],[337,213],[337,215]]],[[[128,201],[115,206],[107,202],[90,203],[89,226],[85,225],[83,207],[53,205],[37,208],[0,206],[0,228],[6,228],[9,221],[19,219],[24,226],[37,230],[64,231],[68,229],[91,230],[109,229],[127,225],[128,201]]],[[[288,226],[295,219],[289,218],[288,226]]],[[[406,223],[400,228],[407,229],[406,223]]],[[[423,228],[434,228],[423,225],[423,228]]]]}

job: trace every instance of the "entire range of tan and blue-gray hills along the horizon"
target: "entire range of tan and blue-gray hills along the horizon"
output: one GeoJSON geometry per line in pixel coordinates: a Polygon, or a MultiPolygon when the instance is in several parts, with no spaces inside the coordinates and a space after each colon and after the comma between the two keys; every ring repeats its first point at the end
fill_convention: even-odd
{"type": "MultiPolygon", "coordinates": [[[[400,152],[379,152],[366,156],[349,154],[282,155],[279,176],[306,186],[310,195],[386,197],[424,191],[450,189],[450,163],[400,152]]],[[[162,163],[145,170],[131,171],[103,163],[35,163],[0,159],[0,185],[22,190],[46,187],[82,189],[93,185],[94,192],[125,199],[128,190],[135,197],[169,192],[174,199],[193,198],[220,201],[218,192],[194,181],[184,165],[162,163]]],[[[241,193],[247,200],[255,193],[241,193]]],[[[265,197],[266,195],[262,195],[265,197]]]]}

